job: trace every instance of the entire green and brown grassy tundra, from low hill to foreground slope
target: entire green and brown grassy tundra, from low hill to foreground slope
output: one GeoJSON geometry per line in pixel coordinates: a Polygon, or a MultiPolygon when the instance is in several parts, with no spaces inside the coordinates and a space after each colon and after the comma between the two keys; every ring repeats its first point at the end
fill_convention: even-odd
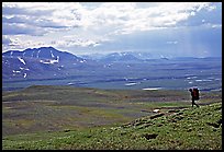
{"type": "Polygon", "coordinates": [[[222,95],[202,93],[200,105],[217,103],[200,108],[188,95],[64,86],[3,93],[3,149],[221,149],[222,95]],[[164,116],[153,118],[154,108],[164,116]],[[142,109],[146,117],[132,121],[142,109]]]}

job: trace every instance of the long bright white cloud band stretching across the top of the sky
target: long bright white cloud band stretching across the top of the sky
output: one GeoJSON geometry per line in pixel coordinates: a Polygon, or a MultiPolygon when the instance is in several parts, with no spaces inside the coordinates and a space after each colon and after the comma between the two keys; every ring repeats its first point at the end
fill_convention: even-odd
{"type": "MultiPolygon", "coordinates": [[[[77,2],[3,2],[2,22],[3,26],[8,23],[23,23],[36,28],[48,27],[49,32],[54,28],[83,27],[98,31],[115,26],[115,31],[111,33],[127,34],[135,31],[176,26],[203,9],[212,11],[215,7],[208,2],[160,2],[149,8],[138,8],[133,2],[105,2],[88,9],[85,3],[77,2]]],[[[38,31],[42,30],[38,28],[38,31]]],[[[16,31],[15,34],[18,34],[16,31]]]]}

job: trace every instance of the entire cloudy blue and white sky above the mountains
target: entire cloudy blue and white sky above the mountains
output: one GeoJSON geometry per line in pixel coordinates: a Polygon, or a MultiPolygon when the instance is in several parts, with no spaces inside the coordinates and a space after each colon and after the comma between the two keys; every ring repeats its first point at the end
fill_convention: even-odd
{"type": "Polygon", "coordinates": [[[2,2],[2,51],[222,57],[222,2],[2,2]]]}

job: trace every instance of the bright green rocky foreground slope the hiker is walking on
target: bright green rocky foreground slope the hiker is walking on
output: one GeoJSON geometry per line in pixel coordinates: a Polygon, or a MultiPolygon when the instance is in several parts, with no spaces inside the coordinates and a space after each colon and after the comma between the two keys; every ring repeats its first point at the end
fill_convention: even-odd
{"type": "Polygon", "coordinates": [[[158,113],[134,121],[55,132],[5,136],[3,150],[221,150],[222,103],[158,113]]]}

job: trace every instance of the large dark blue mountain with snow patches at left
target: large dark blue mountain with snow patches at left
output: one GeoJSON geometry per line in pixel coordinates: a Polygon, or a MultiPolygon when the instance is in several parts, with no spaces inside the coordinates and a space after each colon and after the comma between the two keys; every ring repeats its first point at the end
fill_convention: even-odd
{"type": "Polygon", "coordinates": [[[53,47],[9,50],[2,54],[3,80],[57,78],[87,65],[87,60],[53,47]]]}

